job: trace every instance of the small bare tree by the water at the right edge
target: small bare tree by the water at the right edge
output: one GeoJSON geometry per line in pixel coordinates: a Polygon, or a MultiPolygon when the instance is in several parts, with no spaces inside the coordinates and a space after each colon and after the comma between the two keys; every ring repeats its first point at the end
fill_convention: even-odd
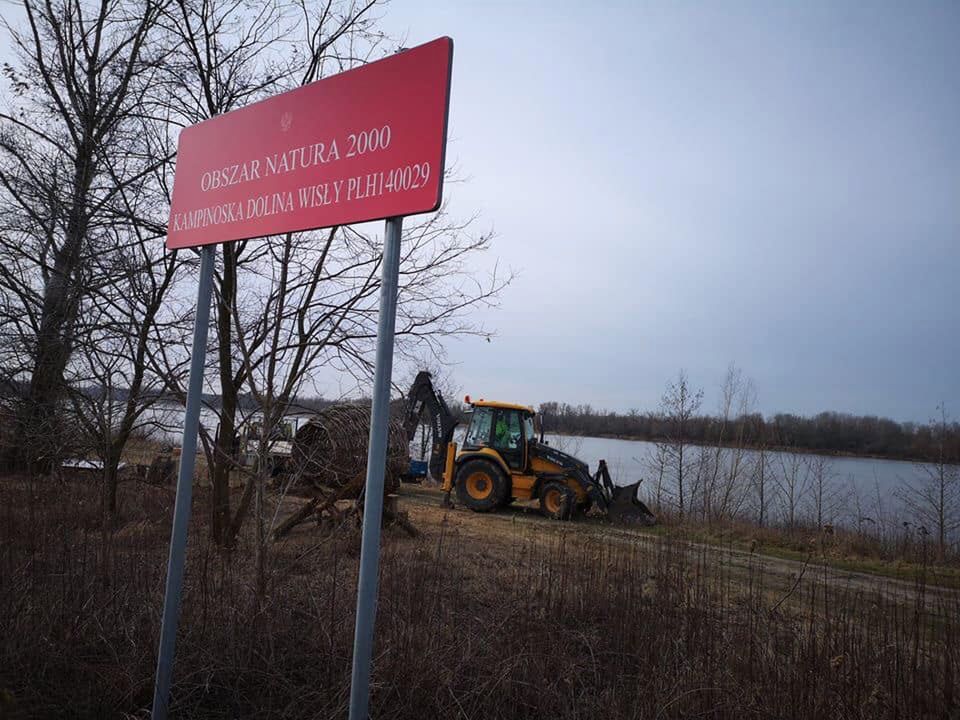
{"type": "Polygon", "coordinates": [[[943,560],[954,533],[960,529],[960,461],[947,444],[950,424],[946,405],[937,406],[937,417],[931,421],[934,457],[929,463],[918,463],[917,474],[904,483],[899,495],[921,532],[936,539],[937,554],[943,560]]]}

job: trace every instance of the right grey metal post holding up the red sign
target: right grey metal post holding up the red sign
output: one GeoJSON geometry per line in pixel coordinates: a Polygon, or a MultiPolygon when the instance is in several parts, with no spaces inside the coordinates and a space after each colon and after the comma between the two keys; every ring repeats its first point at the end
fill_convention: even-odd
{"type": "Polygon", "coordinates": [[[393,334],[397,318],[397,283],[400,275],[400,233],[403,218],[387,220],[377,318],[377,358],[370,410],[370,447],[367,451],[367,484],[363,503],[360,543],[360,579],[357,583],[357,624],[353,635],[353,671],[350,680],[350,720],[367,720],[370,701],[370,661],[373,624],[377,614],[377,579],[380,569],[380,525],[387,464],[387,430],[390,424],[390,378],[393,373],[393,334]]]}

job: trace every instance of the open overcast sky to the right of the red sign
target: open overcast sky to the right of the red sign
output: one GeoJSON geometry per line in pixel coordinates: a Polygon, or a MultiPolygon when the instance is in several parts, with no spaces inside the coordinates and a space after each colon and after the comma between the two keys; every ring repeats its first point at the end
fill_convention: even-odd
{"type": "Polygon", "coordinates": [[[520,271],[464,391],[960,415],[960,4],[393,2],[454,38],[448,195],[520,271]]]}

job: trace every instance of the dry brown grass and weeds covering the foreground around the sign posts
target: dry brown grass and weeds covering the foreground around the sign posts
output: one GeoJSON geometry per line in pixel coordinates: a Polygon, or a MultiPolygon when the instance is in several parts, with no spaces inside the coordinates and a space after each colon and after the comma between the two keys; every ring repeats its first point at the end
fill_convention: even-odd
{"type": "MultiPolygon", "coordinates": [[[[0,481],[0,716],[144,717],[172,490],[0,481]]],[[[345,717],[358,539],[306,527],[253,591],[244,538],[206,538],[197,492],[172,714],[345,717]]],[[[387,533],[372,717],[943,718],[960,712],[960,596],[819,583],[789,602],[680,543],[411,506],[387,533]],[[936,606],[934,606],[936,605],[936,606]]]]}

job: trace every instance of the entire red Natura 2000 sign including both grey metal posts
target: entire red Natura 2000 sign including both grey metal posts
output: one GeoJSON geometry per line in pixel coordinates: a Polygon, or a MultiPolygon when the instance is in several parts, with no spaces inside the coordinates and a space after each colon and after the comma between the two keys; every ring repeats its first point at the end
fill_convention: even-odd
{"type": "Polygon", "coordinates": [[[350,717],[366,720],[380,560],[390,376],[406,215],[443,202],[453,40],[437,38],[184,128],[167,247],[202,247],[183,453],[160,627],[153,719],[166,720],[180,614],[210,319],[213,248],[386,220],[350,717]]]}

